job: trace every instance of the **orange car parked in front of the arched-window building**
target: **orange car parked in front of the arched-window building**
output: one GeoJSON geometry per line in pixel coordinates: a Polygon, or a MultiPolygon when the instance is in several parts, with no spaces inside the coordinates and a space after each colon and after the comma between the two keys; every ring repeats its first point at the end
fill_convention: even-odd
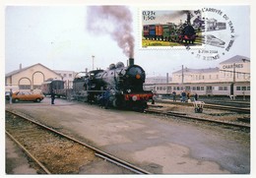
{"type": "Polygon", "coordinates": [[[40,102],[42,99],[42,94],[32,93],[30,91],[15,91],[12,95],[12,100],[14,102],[19,102],[20,100],[40,102]]]}

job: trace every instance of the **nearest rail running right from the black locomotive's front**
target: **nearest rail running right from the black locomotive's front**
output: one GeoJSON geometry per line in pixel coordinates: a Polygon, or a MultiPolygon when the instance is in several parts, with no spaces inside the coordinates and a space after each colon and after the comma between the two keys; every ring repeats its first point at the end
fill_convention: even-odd
{"type": "Polygon", "coordinates": [[[229,126],[229,127],[236,127],[236,128],[242,129],[242,130],[250,131],[250,126],[246,125],[246,124],[239,124],[239,123],[225,122],[225,121],[220,121],[220,120],[212,120],[212,119],[206,119],[206,118],[193,117],[193,116],[188,116],[185,113],[163,111],[163,110],[158,110],[156,108],[148,108],[145,111],[146,111],[146,113],[156,113],[156,114],[160,114],[160,115],[179,117],[182,119],[191,119],[191,120],[202,121],[202,122],[210,122],[210,123],[215,123],[215,124],[229,126]]]}

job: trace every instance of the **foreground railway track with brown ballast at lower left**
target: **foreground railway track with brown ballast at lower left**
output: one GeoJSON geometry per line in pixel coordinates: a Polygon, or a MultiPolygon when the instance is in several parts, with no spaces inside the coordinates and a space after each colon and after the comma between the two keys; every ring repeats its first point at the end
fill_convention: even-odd
{"type": "Polygon", "coordinates": [[[107,160],[130,174],[151,174],[136,165],[82,143],[21,113],[6,110],[6,134],[40,167],[39,173],[78,173],[95,158],[107,160]]]}

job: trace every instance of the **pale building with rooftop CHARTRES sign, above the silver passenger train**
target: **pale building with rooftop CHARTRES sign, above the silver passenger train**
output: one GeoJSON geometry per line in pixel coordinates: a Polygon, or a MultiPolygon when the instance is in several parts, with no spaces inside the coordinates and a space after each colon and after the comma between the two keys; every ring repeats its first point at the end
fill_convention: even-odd
{"type": "Polygon", "coordinates": [[[190,69],[172,73],[171,83],[220,83],[249,82],[250,59],[236,55],[219,64],[219,67],[208,69],[190,69]]]}

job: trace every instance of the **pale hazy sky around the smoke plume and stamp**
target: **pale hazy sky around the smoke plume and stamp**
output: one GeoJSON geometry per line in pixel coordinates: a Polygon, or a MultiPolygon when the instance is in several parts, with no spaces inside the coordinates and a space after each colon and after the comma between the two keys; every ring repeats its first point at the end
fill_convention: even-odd
{"type": "MultiPolygon", "coordinates": [[[[203,6],[202,6],[203,7],[203,6]]],[[[202,69],[219,67],[219,63],[235,55],[250,58],[250,8],[249,6],[206,6],[221,10],[234,28],[234,42],[220,59],[197,58],[198,50],[159,49],[141,47],[141,6],[127,6],[133,22],[130,24],[134,36],[135,64],[144,68],[148,77],[162,76],[187,68],[202,69]],[[237,13],[239,12],[239,13],[237,13]]],[[[126,8],[126,7],[125,7],[126,8]]],[[[150,7],[149,9],[156,7],[150,7]]],[[[160,7],[162,9],[162,7],[160,7]]],[[[172,6],[164,6],[166,10],[172,6]]],[[[176,7],[181,8],[181,7],[176,7]]],[[[191,8],[191,7],[190,7],[191,8]]],[[[200,9],[194,6],[192,9],[200,9]]],[[[181,8],[182,9],[182,8],[181,8]]],[[[94,66],[106,69],[111,63],[127,63],[125,55],[109,33],[89,30],[88,6],[6,6],[5,8],[5,74],[40,63],[52,70],[81,72],[94,66]]],[[[224,15],[223,14],[223,15],[224,15]]],[[[211,17],[219,18],[216,13],[211,17]]],[[[98,14],[99,19],[105,20],[98,14]]],[[[220,20],[223,20],[221,18],[220,20]]],[[[99,20],[100,22],[100,20],[99,20]]],[[[107,21],[106,21],[107,22],[107,21]]],[[[118,23],[109,28],[121,30],[118,23]]],[[[104,25],[107,29],[107,23],[104,25]]],[[[221,35],[229,41],[229,26],[221,35]]],[[[218,32],[218,31],[217,31],[218,32]]],[[[206,49],[223,49],[206,45],[206,49]]]]}

